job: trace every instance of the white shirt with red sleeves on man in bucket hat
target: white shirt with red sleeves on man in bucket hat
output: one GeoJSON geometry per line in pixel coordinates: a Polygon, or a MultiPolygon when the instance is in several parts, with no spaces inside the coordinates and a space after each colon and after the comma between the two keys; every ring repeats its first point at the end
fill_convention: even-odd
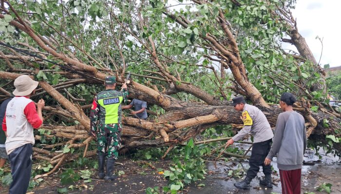
{"type": "Polygon", "coordinates": [[[31,99],[14,97],[9,101],[2,122],[2,130],[7,133],[5,143],[7,154],[25,144],[34,144],[33,129],[39,128],[41,124],[42,120],[31,99]]]}

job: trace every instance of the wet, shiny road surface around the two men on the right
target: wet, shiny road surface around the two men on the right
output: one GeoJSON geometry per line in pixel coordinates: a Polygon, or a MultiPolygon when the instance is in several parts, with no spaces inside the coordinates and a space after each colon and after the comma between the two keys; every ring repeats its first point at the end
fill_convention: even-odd
{"type": "MultiPolygon", "coordinates": [[[[340,158],[334,157],[331,154],[325,155],[323,149],[321,149],[320,154],[322,155],[322,159],[320,160],[318,156],[315,155],[315,152],[312,150],[307,150],[304,154],[304,165],[302,167],[302,193],[309,191],[314,193],[319,193],[316,191],[317,186],[322,184],[323,182],[331,183],[333,186],[331,187],[332,193],[341,194],[341,165],[340,158]]],[[[205,187],[196,187],[191,186],[189,194],[271,194],[273,193],[282,193],[281,181],[279,177],[279,170],[277,168],[276,158],[271,163],[273,169],[278,173],[273,173],[272,179],[273,182],[277,185],[274,185],[272,189],[265,188],[264,186],[259,185],[259,178],[263,178],[264,174],[262,172],[262,167],[260,167],[260,172],[257,174],[257,177],[254,178],[251,182],[250,190],[238,190],[234,187],[234,183],[236,181],[241,181],[243,178],[229,178],[228,171],[231,169],[236,169],[238,167],[238,163],[241,163],[245,170],[248,169],[248,161],[242,159],[235,159],[233,162],[227,163],[219,163],[217,162],[217,169],[214,167],[213,163],[208,163],[208,170],[212,171],[212,175],[206,176],[205,180],[198,181],[196,185],[203,183],[205,187]]]]}

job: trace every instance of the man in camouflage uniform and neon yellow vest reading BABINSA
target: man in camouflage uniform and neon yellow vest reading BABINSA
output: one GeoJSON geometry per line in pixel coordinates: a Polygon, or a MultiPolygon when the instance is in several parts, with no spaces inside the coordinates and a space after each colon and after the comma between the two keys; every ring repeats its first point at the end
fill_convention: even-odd
{"type": "Polygon", "coordinates": [[[105,91],[98,93],[90,112],[90,132],[97,136],[98,177],[106,180],[117,178],[113,175],[114,161],[121,146],[121,103],[127,101],[127,85],[122,85],[122,92],[116,91],[116,78],[105,78],[105,91]],[[106,152],[107,149],[107,152],[106,152]],[[107,156],[106,176],[104,177],[104,160],[107,156]]]}

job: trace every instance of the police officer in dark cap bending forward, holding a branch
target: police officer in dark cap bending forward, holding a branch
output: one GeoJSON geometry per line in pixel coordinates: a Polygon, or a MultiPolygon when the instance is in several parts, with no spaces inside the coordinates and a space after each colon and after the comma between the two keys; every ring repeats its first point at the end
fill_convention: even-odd
{"type": "Polygon", "coordinates": [[[259,166],[263,166],[265,179],[260,180],[260,184],[272,188],[271,166],[263,163],[270,151],[270,144],[273,138],[270,124],[266,120],[264,113],[257,107],[246,104],[246,101],[242,96],[234,97],[232,99],[232,106],[234,106],[236,111],[243,111],[242,117],[244,128],[232,137],[232,139],[228,140],[226,145],[229,146],[234,142],[243,139],[249,133],[253,135],[253,146],[249,160],[250,168],[247,170],[246,178],[241,182],[234,183],[234,186],[238,189],[249,189],[252,178],[257,176],[259,166]]]}

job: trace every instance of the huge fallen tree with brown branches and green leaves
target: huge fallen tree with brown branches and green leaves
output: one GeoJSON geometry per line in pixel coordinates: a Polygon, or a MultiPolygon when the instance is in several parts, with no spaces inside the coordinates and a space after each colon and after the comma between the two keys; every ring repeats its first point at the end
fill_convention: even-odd
{"type": "Polygon", "coordinates": [[[1,2],[1,100],[19,75],[39,81],[33,99],[43,97],[47,106],[34,157],[54,165],[45,176],[64,161],[95,155],[89,104],[105,76],[116,76],[119,87],[128,70],[130,97],[147,101],[154,116],[123,116],[123,151],[169,151],[209,128],[240,128],[231,94],[246,96],[274,127],[279,96],[292,92],[308,136],[340,137],[340,113],[323,102],[323,70],[298,35],[289,4],[194,0],[171,11],[157,0],[1,2]],[[284,52],[282,33],[300,53],[284,52]]]}

